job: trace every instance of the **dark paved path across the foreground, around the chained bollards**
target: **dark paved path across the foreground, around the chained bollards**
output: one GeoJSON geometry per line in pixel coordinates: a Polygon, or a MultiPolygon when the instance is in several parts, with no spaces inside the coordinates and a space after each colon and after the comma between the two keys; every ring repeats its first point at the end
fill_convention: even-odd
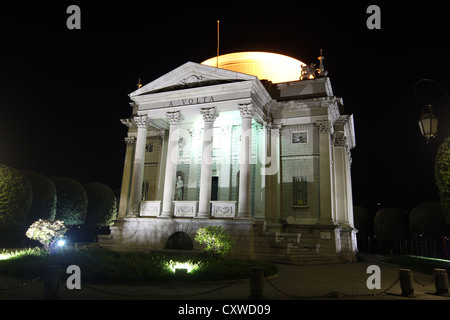
{"type": "MultiPolygon", "coordinates": [[[[267,300],[450,300],[450,296],[434,295],[432,274],[413,271],[415,298],[401,296],[397,282],[386,293],[399,275],[398,266],[385,264],[374,255],[362,255],[363,261],[346,264],[315,266],[278,265],[280,274],[264,283],[267,300]],[[366,286],[367,267],[376,264],[381,269],[381,289],[366,286]],[[423,286],[425,285],[425,286],[423,286]],[[331,294],[330,292],[339,292],[331,294]]],[[[26,285],[23,279],[0,277],[0,300],[42,299],[42,281],[26,285]],[[10,289],[6,289],[9,287],[10,289]]],[[[249,280],[158,283],[158,284],[105,284],[82,283],[81,290],[68,290],[61,283],[59,300],[246,300],[250,294],[249,280]]]]}

